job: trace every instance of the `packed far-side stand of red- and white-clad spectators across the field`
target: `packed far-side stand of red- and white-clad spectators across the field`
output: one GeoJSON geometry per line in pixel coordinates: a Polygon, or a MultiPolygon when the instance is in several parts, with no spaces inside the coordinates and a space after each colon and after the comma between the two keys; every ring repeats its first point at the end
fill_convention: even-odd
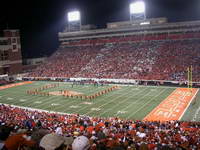
{"type": "Polygon", "coordinates": [[[157,41],[151,40],[151,35],[147,40],[135,42],[119,37],[123,42],[102,39],[101,44],[68,43],[29,76],[185,81],[187,68],[192,65],[193,80],[199,82],[200,39],[197,35],[199,33],[174,34],[173,40],[157,41]]]}

